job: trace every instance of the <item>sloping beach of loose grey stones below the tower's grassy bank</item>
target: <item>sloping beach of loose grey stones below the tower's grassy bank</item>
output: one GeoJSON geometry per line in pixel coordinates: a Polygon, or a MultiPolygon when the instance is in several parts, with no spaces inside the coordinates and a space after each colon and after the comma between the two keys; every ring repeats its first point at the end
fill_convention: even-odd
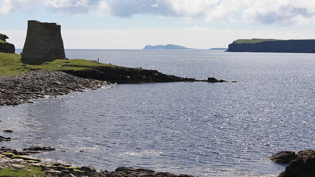
{"type": "Polygon", "coordinates": [[[0,106],[32,103],[31,100],[97,89],[110,82],[83,79],[64,72],[31,71],[17,76],[0,75],[0,106]]]}

